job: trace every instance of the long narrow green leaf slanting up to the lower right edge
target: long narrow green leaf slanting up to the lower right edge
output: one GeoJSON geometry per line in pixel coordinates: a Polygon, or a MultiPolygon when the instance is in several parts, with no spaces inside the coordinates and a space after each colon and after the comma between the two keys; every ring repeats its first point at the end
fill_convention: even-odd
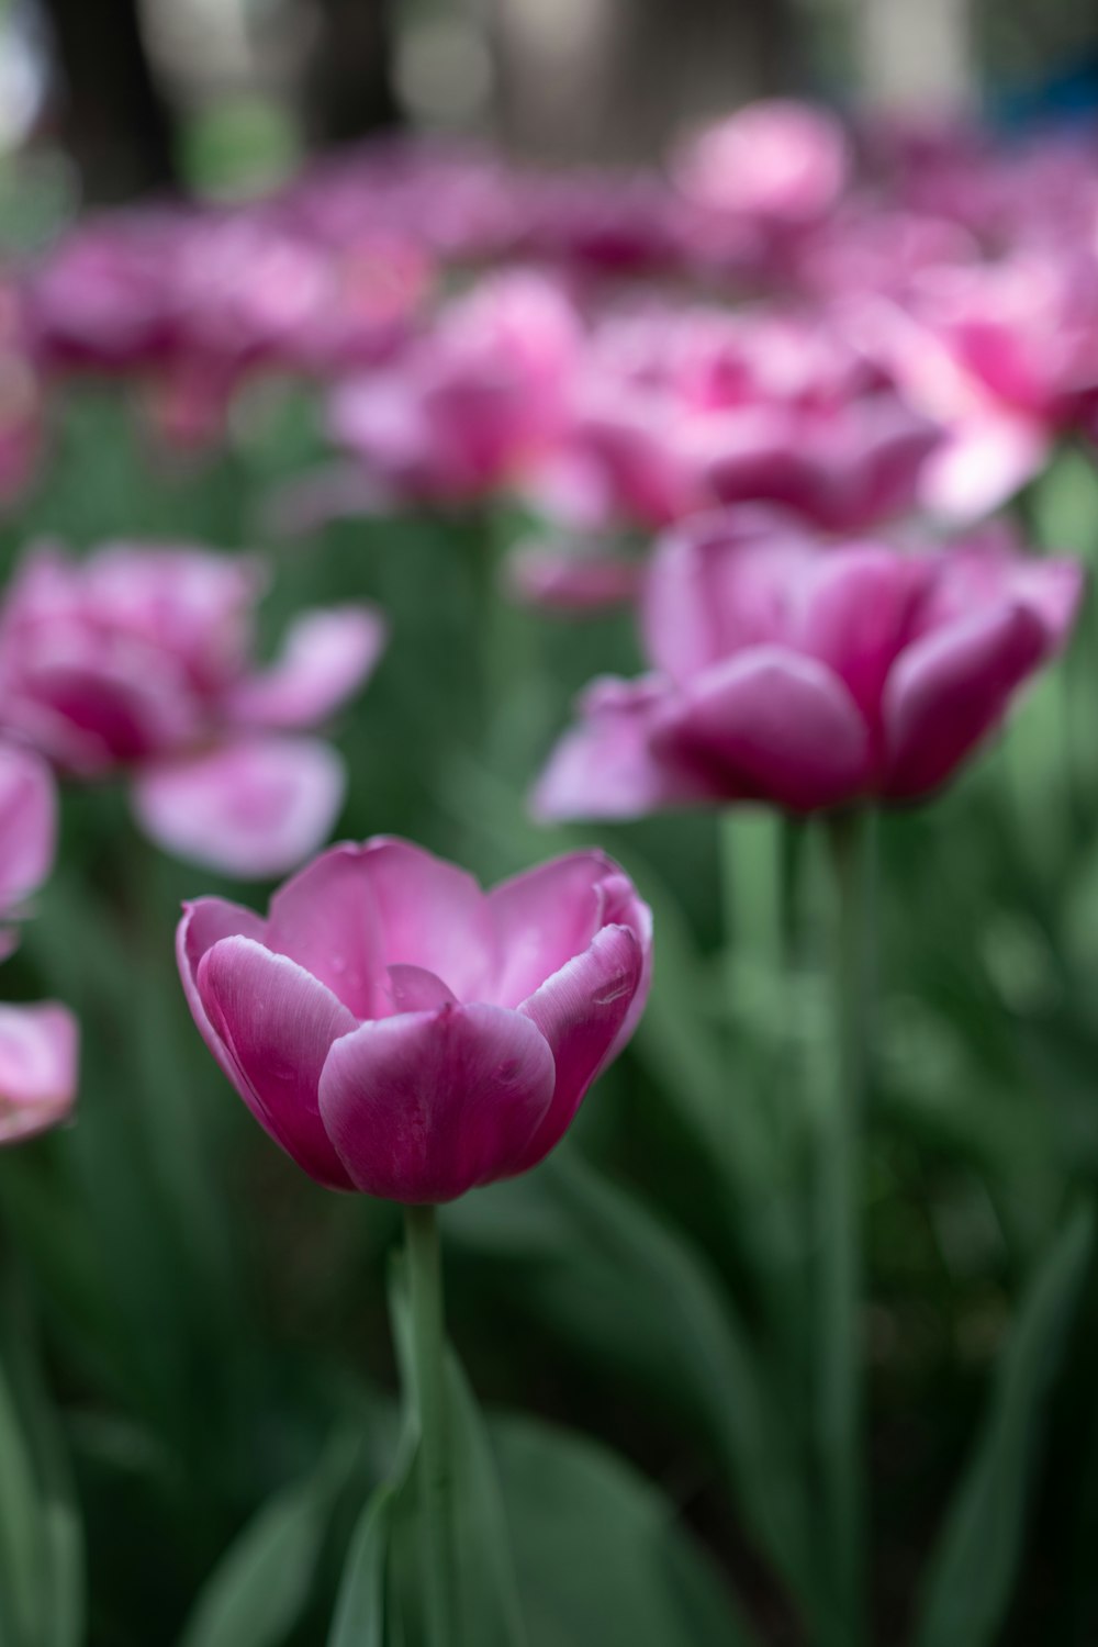
{"type": "Polygon", "coordinates": [[[917,1647],[989,1647],[1011,1601],[1044,1405],[1095,1237],[1078,1207],[1037,1270],[991,1388],[983,1433],[932,1558],[917,1647]]]}

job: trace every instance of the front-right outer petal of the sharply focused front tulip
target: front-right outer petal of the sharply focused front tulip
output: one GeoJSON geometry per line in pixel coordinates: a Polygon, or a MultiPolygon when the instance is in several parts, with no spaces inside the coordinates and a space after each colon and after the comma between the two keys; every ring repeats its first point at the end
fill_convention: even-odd
{"type": "Polygon", "coordinates": [[[556,1064],[553,1103],[523,1151],[522,1171],[537,1166],[571,1127],[588,1087],[619,1044],[642,970],[635,935],[627,927],[604,927],[583,955],[519,1008],[538,1026],[556,1064]]]}

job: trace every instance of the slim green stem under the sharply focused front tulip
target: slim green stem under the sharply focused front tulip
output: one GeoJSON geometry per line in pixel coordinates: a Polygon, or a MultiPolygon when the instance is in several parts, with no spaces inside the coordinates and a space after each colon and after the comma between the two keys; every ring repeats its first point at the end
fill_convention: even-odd
{"type": "Polygon", "coordinates": [[[449,1423],[443,1268],[435,1207],[405,1207],[412,1364],[420,1420],[420,1537],[428,1647],[456,1647],[458,1609],[451,1525],[449,1423]]]}

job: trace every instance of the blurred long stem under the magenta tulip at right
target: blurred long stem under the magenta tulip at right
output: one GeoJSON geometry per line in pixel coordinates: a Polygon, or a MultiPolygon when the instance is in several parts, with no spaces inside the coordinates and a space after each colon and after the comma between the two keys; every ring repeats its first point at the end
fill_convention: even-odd
{"type": "Polygon", "coordinates": [[[866,1486],[861,1372],[861,1131],[872,924],[872,815],[831,820],[835,1080],[820,1153],[820,1451],[823,1540],[844,1647],[866,1640],[866,1486]]]}

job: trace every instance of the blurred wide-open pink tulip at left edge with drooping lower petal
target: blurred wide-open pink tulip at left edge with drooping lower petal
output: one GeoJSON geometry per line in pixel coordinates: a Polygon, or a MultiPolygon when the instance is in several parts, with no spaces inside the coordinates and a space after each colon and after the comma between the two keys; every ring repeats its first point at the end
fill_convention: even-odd
{"type": "Polygon", "coordinates": [[[285,871],[342,797],[339,758],[301,733],[362,685],[385,624],[369,606],[308,613],[258,667],[263,583],[255,558],[189,547],[33,552],[0,609],[0,720],[64,774],[132,776],[170,850],[285,871]]]}

